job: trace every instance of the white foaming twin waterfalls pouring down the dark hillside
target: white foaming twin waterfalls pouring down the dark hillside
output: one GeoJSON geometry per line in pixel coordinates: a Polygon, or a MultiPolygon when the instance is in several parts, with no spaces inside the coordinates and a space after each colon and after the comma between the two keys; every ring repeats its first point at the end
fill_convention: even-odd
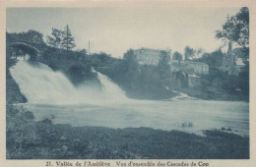
{"type": "Polygon", "coordinates": [[[81,104],[126,99],[123,90],[100,73],[97,77],[103,91],[86,83],[76,87],[61,72],[41,63],[19,61],[10,72],[29,103],[81,104]]]}

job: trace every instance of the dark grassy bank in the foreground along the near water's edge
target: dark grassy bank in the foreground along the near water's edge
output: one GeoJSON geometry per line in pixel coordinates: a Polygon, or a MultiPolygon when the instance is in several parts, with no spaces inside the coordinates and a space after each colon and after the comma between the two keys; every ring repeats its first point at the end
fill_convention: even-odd
{"type": "MultiPolygon", "coordinates": [[[[109,129],[34,122],[7,106],[8,159],[247,159],[249,138],[220,131],[205,137],[150,128],[109,129]]],[[[53,118],[54,119],[54,118],[53,118]]]]}

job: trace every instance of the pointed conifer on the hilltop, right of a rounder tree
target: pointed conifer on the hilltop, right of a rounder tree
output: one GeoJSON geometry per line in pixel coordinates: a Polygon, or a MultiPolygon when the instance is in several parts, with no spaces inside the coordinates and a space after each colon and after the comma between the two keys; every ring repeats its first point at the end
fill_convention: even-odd
{"type": "Polygon", "coordinates": [[[65,27],[65,30],[63,32],[63,39],[62,39],[61,45],[66,50],[71,50],[76,46],[75,39],[68,25],[65,27]]]}

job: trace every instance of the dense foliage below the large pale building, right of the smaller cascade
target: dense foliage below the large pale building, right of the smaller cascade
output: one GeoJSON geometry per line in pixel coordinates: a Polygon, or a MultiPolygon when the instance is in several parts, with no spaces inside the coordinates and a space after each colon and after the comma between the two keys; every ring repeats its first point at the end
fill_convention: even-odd
{"type": "Polygon", "coordinates": [[[161,99],[175,95],[170,91],[175,85],[174,76],[167,65],[169,58],[164,55],[159,66],[139,65],[133,50],[128,50],[123,60],[106,55],[98,58],[105,64],[96,70],[118,83],[129,97],[161,99]]]}

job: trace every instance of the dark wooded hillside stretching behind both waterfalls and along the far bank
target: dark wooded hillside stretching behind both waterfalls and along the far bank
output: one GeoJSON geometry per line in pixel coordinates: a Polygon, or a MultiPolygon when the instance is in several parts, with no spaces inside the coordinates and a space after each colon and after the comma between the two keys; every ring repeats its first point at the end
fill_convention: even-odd
{"type": "MultiPolygon", "coordinates": [[[[11,94],[20,94],[15,98],[19,99],[20,102],[26,101],[21,95],[18,85],[9,75],[8,69],[17,61],[12,54],[13,52],[17,53],[16,57],[17,55],[23,57],[24,54],[36,54],[34,49],[38,50],[39,56],[33,56],[37,57],[33,61],[46,64],[54,71],[62,72],[74,85],[86,82],[101,87],[96,73],[92,72],[92,68],[94,68],[97,72],[107,76],[112,82],[117,83],[130,98],[168,99],[177,95],[177,93],[171,91],[175,90],[206,100],[248,101],[249,99],[246,78],[248,73],[245,72],[238,77],[232,77],[222,72],[220,67],[222,66],[221,60],[224,53],[220,50],[209,53],[201,59],[193,60],[209,64],[209,75],[202,77],[203,86],[184,87],[179,86],[180,81],[177,80],[177,75],[171,73],[164,64],[158,66],[138,64],[132,50],[128,50],[124,54],[124,59],[117,59],[103,52],[87,54],[83,50],[72,51],[48,46],[44,43],[42,35],[35,30],[23,33],[7,32],[6,36],[7,82],[9,83],[8,87],[13,86],[13,88],[8,88],[7,101],[9,102],[11,94]],[[37,38],[34,36],[37,36],[37,38]],[[16,44],[16,48],[14,43],[19,43],[16,44]],[[30,47],[34,49],[29,49],[30,47]],[[17,49],[23,50],[22,53],[17,52],[17,49]],[[237,89],[240,90],[236,91],[237,89]],[[11,91],[14,91],[14,93],[11,91]]],[[[237,52],[237,49],[235,51],[237,52]]],[[[14,100],[14,102],[18,102],[17,100],[14,100]]]]}

